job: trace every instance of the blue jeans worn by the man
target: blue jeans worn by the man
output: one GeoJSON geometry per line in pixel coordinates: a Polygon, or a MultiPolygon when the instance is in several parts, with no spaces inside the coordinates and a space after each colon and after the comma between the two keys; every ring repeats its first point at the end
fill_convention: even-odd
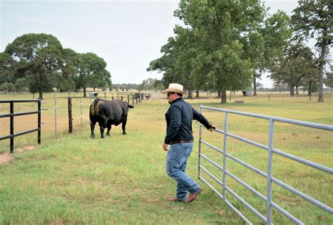
{"type": "Polygon", "coordinates": [[[166,174],[177,181],[176,198],[185,201],[188,192],[194,193],[200,186],[185,173],[186,163],[192,153],[193,143],[171,145],[166,155],[166,174]]]}

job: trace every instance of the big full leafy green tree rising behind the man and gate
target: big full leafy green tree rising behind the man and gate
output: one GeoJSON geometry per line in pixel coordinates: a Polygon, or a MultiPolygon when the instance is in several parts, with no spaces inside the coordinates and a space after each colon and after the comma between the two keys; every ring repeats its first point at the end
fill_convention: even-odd
{"type": "Polygon", "coordinates": [[[195,32],[197,56],[193,74],[200,75],[211,91],[250,86],[252,66],[244,52],[242,37],[262,18],[260,1],[188,1],[179,4],[175,15],[195,32]]]}

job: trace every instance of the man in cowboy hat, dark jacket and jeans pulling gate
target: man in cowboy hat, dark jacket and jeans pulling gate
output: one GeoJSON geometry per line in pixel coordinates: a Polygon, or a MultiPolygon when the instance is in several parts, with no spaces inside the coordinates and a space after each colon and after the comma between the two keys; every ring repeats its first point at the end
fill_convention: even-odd
{"type": "Polygon", "coordinates": [[[216,127],[198,113],[189,103],[183,101],[183,85],[169,84],[169,88],[162,91],[167,93],[170,104],[169,110],[165,114],[166,137],[163,149],[169,152],[166,155],[166,173],[177,181],[176,197],[167,200],[190,203],[202,192],[199,184],[195,183],[190,176],[185,173],[186,163],[193,148],[192,120],[197,120],[210,131],[216,127]],[[190,193],[187,198],[187,193],[190,193]]]}

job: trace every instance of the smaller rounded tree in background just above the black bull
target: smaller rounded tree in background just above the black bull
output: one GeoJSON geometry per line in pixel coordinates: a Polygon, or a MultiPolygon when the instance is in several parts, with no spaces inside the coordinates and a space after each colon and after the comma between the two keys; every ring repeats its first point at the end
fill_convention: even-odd
{"type": "Polygon", "coordinates": [[[105,86],[105,82],[111,85],[111,75],[110,72],[105,70],[105,67],[105,60],[95,53],[79,54],[74,65],[74,82],[76,89],[82,88],[84,90],[84,97],[86,97],[86,88],[89,86],[95,90],[98,87],[105,86]]]}

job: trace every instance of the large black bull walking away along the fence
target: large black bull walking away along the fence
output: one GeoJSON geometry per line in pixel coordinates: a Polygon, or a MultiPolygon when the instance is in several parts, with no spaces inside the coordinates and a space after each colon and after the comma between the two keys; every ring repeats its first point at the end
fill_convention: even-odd
{"type": "Polygon", "coordinates": [[[119,125],[122,123],[122,134],[126,134],[125,127],[127,122],[127,112],[129,108],[134,108],[124,101],[114,100],[107,101],[104,99],[96,98],[90,105],[89,117],[91,138],[95,137],[93,130],[95,129],[96,122],[100,125],[100,135],[104,139],[104,129],[107,128],[106,135],[110,136],[111,125],[119,125]]]}

